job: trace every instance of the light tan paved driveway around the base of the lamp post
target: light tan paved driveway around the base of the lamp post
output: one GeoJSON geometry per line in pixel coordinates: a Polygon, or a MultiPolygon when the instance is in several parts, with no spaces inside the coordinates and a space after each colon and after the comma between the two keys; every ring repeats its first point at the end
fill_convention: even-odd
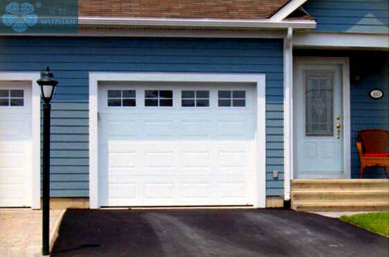
{"type": "MultiPolygon", "coordinates": [[[[50,251],[65,210],[50,210],[50,251]]],[[[42,210],[0,208],[0,256],[42,256],[42,210]]]]}

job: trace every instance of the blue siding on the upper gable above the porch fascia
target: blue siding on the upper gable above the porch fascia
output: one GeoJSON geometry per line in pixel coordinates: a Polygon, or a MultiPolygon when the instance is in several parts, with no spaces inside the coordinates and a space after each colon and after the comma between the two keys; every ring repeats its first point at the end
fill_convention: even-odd
{"type": "Polygon", "coordinates": [[[309,0],[317,31],[389,33],[388,0],[309,0]]]}

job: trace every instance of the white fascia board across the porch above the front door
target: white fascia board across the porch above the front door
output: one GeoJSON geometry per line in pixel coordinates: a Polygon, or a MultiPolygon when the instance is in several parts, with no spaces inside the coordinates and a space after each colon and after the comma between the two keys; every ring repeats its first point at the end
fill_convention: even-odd
{"type": "Polygon", "coordinates": [[[295,48],[389,50],[388,34],[372,33],[295,33],[295,48]]]}

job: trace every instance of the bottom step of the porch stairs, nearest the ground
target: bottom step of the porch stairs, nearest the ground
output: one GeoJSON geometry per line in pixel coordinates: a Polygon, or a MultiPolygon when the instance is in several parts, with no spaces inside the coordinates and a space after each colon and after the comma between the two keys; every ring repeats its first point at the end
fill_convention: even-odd
{"type": "Polygon", "coordinates": [[[292,209],[299,211],[352,211],[352,210],[389,210],[389,204],[387,201],[383,202],[304,202],[304,203],[292,203],[292,209]]]}

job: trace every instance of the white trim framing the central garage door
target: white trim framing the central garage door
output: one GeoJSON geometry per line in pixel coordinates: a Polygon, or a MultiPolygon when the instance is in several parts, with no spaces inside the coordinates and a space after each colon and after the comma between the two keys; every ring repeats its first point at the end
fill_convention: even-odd
{"type": "Polygon", "coordinates": [[[256,84],[256,203],[266,202],[266,125],[265,74],[204,74],[204,73],[89,73],[89,194],[90,208],[99,208],[98,176],[98,83],[99,81],[205,82],[256,84]]]}

